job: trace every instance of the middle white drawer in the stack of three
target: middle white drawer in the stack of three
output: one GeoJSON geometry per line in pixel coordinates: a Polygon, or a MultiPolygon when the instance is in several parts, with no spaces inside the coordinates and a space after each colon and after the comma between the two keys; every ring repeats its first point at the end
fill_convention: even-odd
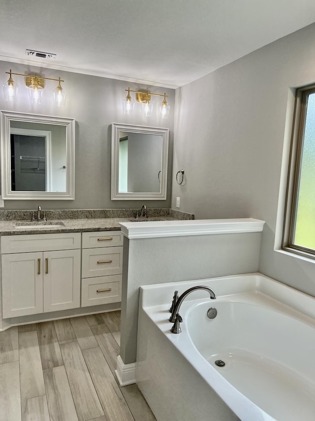
{"type": "Polygon", "coordinates": [[[119,275],[123,271],[123,247],[82,250],[82,278],[119,275]]]}

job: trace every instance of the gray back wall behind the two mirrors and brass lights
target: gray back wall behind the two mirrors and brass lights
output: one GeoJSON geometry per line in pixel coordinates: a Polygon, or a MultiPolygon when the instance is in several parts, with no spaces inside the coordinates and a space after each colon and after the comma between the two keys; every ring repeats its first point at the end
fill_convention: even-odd
{"type": "MultiPolygon", "coordinates": [[[[52,104],[52,90],[57,82],[46,81],[43,93],[43,104],[31,105],[28,91],[23,77],[13,79],[19,85],[19,99],[17,103],[4,101],[0,93],[0,110],[32,113],[42,115],[56,115],[75,118],[76,144],[75,144],[75,200],[73,201],[45,201],[41,202],[43,209],[108,209],[108,208],[137,208],[140,201],[111,201],[111,123],[137,124],[144,126],[166,127],[170,129],[169,167],[167,200],[148,201],[148,208],[169,208],[171,203],[171,176],[172,176],[172,150],[173,150],[173,121],[174,97],[173,89],[158,86],[139,85],[122,80],[81,75],[59,70],[40,69],[22,64],[0,61],[0,75],[2,82],[8,79],[5,72],[12,69],[14,73],[40,73],[44,77],[65,80],[62,84],[67,92],[67,101],[64,108],[54,107],[52,104]],[[152,97],[154,111],[151,117],[141,115],[140,104],[135,104],[134,114],[124,115],[122,100],[126,98],[125,89],[148,89],[154,93],[166,92],[171,106],[170,116],[167,120],[158,117],[158,104],[162,98],[152,97]],[[139,107],[137,107],[139,106],[139,107]]],[[[6,200],[5,209],[33,209],[37,207],[36,201],[6,200]]],[[[141,207],[140,206],[140,207],[141,207]]]]}

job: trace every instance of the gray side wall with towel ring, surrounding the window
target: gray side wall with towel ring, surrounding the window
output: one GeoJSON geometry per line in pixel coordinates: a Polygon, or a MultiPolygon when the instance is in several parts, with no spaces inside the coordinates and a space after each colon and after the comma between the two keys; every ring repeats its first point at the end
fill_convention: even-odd
{"type": "Polygon", "coordinates": [[[315,296],[315,263],[274,251],[292,125],[290,88],[314,81],[315,24],[177,89],[172,207],[180,196],[181,210],[196,219],[266,221],[260,272],[315,296]],[[178,186],[181,168],[187,180],[178,186]]]}

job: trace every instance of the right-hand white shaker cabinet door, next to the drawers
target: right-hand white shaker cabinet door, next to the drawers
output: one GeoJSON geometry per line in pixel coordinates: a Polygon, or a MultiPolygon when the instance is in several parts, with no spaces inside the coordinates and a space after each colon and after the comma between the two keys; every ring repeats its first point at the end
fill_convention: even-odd
{"type": "Polygon", "coordinates": [[[80,307],[81,250],[43,253],[44,312],[80,307]]]}

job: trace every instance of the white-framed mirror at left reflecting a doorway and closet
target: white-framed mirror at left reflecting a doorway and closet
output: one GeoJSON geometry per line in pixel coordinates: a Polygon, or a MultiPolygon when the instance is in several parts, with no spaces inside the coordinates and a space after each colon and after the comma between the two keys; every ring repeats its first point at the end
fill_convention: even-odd
{"type": "Polygon", "coordinates": [[[0,111],[4,200],[74,199],[73,118],[0,111]]]}

